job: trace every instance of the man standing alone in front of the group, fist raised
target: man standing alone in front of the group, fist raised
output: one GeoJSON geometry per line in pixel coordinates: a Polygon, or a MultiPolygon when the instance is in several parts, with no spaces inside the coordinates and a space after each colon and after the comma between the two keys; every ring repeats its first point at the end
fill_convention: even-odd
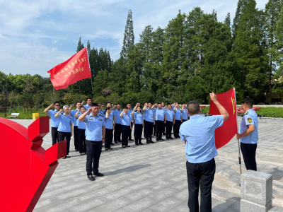
{"type": "Polygon", "coordinates": [[[93,175],[104,176],[98,172],[102,145],[105,142],[105,122],[99,115],[99,110],[99,105],[92,103],[91,108],[79,117],[80,122],[86,123],[86,173],[91,181],[95,180],[93,175]]]}

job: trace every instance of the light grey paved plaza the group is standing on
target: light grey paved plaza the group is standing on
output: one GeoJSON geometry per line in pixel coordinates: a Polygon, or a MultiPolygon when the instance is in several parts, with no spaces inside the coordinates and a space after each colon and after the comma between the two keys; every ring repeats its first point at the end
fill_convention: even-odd
{"type": "MultiPolygon", "coordinates": [[[[33,122],[14,121],[23,126],[33,122]]],[[[270,211],[283,211],[282,128],[283,122],[259,122],[256,159],[258,171],[273,175],[273,207],[270,211]]],[[[183,141],[173,139],[146,144],[143,139],[142,142],[145,143],[143,146],[134,146],[134,141],[131,141],[130,148],[122,148],[118,143],[112,151],[103,148],[99,170],[105,177],[96,177],[91,182],[86,175],[86,155],[74,151],[74,140],[71,139],[71,158],[59,160],[34,211],[189,211],[183,141]]],[[[51,134],[47,134],[42,147],[47,149],[50,146],[51,134]]],[[[218,153],[212,211],[240,211],[236,139],[220,148],[218,153]]],[[[245,166],[242,166],[245,172],[245,166]]]]}

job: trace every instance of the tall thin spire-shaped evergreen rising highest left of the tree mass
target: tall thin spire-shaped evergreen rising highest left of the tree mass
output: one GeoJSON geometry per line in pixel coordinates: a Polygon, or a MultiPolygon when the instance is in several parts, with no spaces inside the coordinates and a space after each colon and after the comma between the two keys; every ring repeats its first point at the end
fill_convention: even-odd
{"type": "Polygon", "coordinates": [[[127,59],[127,55],[129,54],[129,49],[132,47],[132,45],[134,45],[134,23],[132,19],[132,10],[129,10],[127,16],[127,22],[125,26],[121,57],[127,59]]]}

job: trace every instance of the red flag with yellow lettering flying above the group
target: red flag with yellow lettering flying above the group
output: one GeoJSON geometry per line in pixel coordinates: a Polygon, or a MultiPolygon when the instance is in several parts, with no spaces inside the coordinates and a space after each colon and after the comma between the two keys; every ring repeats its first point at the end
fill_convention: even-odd
{"type": "Polygon", "coordinates": [[[77,81],[90,78],[91,69],[89,69],[86,47],[47,72],[50,73],[50,81],[56,90],[68,88],[69,85],[77,81]]]}

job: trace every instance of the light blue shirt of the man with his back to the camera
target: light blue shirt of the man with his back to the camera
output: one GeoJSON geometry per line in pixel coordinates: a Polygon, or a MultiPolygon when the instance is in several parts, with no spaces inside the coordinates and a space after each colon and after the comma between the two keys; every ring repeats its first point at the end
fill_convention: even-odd
{"type": "Polygon", "coordinates": [[[180,138],[187,141],[185,153],[190,163],[204,163],[218,155],[215,147],[214,131],[222,126],[221,115],[202,117],[200,114],[190,117],[180,126],[180,138]]]}

